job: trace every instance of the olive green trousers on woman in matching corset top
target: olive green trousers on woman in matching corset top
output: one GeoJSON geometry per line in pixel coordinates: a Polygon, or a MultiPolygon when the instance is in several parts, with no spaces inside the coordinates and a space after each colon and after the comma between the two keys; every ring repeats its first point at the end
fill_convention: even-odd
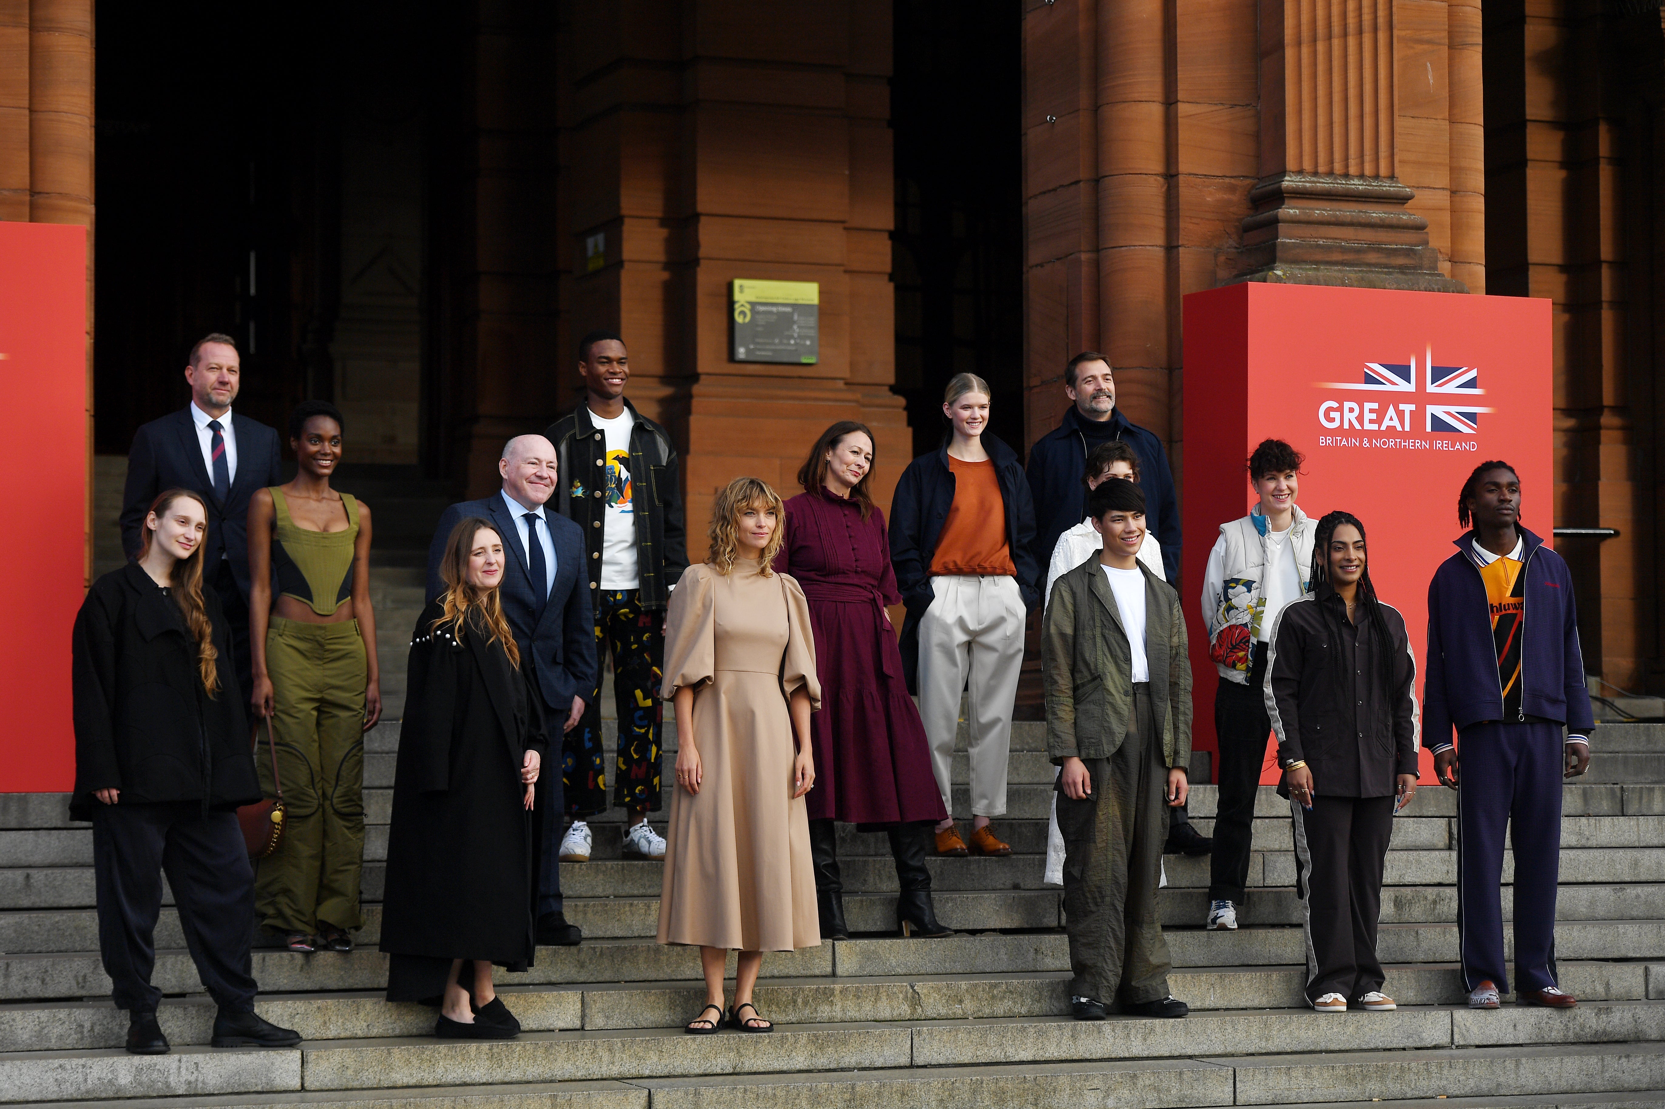
{"type": "MultiPolygon", "coordinates": [[[[365,868],[365,640],[358,620],[301,624],[271,617],[266,675],[271,735],[283,780],[285,828],[258,860],[255,916],[280,933],[360,928],[365,868]]],[[[265,728],[256,730],[260,786],[276,796],[265,728]]]]}

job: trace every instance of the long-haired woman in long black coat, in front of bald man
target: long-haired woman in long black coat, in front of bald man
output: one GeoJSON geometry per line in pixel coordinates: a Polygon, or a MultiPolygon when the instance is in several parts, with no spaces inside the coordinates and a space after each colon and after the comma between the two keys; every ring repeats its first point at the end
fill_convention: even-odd
{"type": "Polygon", "coordinates": [[[491,966],[531,966],[534,783],[546,750],[529,660],[498,600],[503,537],[461,520],[446,592],[416,622],[388,830],[381,949],[388,1001],[440,1006],[435,1034],[511,1039],[491,966]],[[461,974],[463,963],[471,963],[461,974]]]}

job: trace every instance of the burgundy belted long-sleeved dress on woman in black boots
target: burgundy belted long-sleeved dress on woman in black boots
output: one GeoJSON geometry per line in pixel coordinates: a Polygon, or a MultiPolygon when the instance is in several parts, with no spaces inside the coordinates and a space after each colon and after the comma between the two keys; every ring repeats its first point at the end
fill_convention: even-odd
{"type": "Polygon", "coordinates": [[[809,820],[947,820],[884,612],[902,600],[884,515],[874,509],[862,520],[861,505],[826,489],[799,494],[786,502],[786,542],[774,569],[803,585],[816,633],[821,710],[811,717],[809,820]]]}

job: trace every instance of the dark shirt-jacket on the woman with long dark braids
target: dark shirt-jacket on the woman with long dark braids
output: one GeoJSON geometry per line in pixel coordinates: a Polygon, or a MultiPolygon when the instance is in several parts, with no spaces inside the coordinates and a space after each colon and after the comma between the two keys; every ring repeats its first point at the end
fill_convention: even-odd
{"type": "Polygon", "coordinates": [[[1272,625],[1265,708],[1277,758],[1307,760],[1315,793],[1389,796],[1395,775],[1417,773],[1417,658],[1399,610],[1382,605],[1382,619],[1394,662],[1390,688],[1384,688],[1375,635],[1347,622],[1347,605],[1327,582],[1285,605],[1272,625]],[[1342,673],[1332,643],[1337,628],[1342,673]]]}

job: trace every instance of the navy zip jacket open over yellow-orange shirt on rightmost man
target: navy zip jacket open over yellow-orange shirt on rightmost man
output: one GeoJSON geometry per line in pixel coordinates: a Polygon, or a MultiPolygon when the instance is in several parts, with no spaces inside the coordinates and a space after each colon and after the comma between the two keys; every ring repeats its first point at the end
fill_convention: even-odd
{"type": "MultiPolygon", "coordinates": [[[[1567,562],[1543,540],[1520,527],[1527,579],[1525,622],[1520,632],[1520,710],[1567,725],[1588,737],[1595,727],[1590,692],[1578,648],[1578,605],[1567,562]]],[[[1503,718],[1497,678],[1492,605],[1485,597],[1475,532],[1457,540],[1457,554],[1440,564],[1429,584],[1429,678],[1425,695],[1427,747],[1452,747],[1452,728],[1503,718]]],[[[1505,723],[1515,723],[1505,720],[1505,723]]]]}

